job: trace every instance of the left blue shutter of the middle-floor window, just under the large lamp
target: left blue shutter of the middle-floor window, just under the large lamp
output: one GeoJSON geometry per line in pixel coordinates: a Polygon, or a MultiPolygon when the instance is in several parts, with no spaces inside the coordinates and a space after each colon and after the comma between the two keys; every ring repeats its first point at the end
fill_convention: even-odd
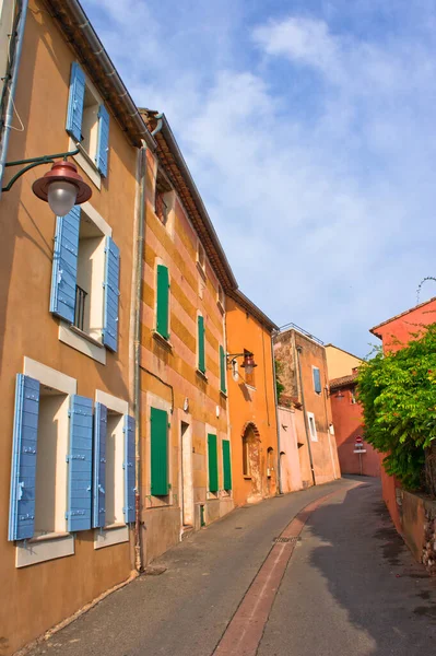
{"type": "Polygon", "coordinates": [[[78,278],[80,207],[67,216],[58,216],[51,270],[50,312],[74,323],[75,282],[78,278]]]}

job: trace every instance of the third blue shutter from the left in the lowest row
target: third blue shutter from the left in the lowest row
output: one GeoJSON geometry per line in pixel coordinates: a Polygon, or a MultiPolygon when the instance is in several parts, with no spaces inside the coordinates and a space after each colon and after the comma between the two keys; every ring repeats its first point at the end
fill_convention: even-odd
{"type": "Polygon", "coordinates": [[[106,435],[107,408],[95,403],[94,414],[94,483],[93,483],[93,526],[106,524],[106,435]]]}

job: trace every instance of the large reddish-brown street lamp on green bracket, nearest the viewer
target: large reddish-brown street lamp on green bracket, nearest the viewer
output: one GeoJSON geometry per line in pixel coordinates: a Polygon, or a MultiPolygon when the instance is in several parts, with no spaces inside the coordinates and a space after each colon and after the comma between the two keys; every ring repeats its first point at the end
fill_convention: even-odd
{"type": "Polygon", "coordinates": [[[51,163],[51,169],[34,181],[32,190],[37,198],[48,202],[57,216],[64,216],[75,204],[85,202],[92,196],[91,187],[79,175],[75,164],[67,162],[69,155],[76,155],[78,153],[79,150],[75,150],[68,153],[43,155],[42,157],[7,163],[5,166],[21,166],[22,164],[26,164],[26,166],[13,176],[2,191],[9,191],[23,173],[30,168],[51,163]],[[54,160],[57,157],[63,157],[63,161],[55,162],[54,160]]]}

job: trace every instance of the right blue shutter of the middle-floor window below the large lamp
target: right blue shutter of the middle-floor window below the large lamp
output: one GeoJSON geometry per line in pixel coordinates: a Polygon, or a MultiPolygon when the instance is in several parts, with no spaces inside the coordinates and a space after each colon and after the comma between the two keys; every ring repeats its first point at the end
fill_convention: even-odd
{"type": "Polygon", "coordinates": [[[103,343],[111,351],[117,351],[119,248],[111,237],[106,237],[105,253],[105,312],[103,319],[103,343]]]}

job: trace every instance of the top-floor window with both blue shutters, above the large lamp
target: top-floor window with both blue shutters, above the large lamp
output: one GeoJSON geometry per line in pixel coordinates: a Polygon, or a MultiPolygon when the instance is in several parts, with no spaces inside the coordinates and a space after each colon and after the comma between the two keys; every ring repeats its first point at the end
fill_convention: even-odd
{"type": "Polygon", "coordinates": [[[107,176],[109,115],[94,85],[76,62],[71,67],[66,129],[101,175],[107,176]]]}

